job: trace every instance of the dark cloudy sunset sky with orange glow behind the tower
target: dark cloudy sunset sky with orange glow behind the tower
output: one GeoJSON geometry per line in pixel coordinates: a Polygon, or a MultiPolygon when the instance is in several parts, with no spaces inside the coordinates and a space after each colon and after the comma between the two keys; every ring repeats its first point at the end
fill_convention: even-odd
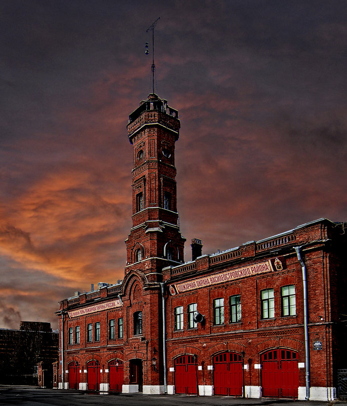
{"type": "Polygon", "coordinates": [[[215,252],[347,220],[347,3],[0,2],[0,327],[122,279],[128,115],[150,93],[181,118],[181,230],[215,252]]]}

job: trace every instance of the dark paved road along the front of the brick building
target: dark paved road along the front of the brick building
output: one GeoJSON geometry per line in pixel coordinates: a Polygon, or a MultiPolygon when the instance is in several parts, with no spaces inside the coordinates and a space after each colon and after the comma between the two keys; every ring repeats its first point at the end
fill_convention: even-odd
{"type": "Polygon", "coordinates": [[[83,391],[41,389],[33,386],[0,386],[0,405],[20,406],[347,406],[347,402],[293,401],[288,399],[242,399],[227,396],[135,394],[88,394],[83,391]]]}

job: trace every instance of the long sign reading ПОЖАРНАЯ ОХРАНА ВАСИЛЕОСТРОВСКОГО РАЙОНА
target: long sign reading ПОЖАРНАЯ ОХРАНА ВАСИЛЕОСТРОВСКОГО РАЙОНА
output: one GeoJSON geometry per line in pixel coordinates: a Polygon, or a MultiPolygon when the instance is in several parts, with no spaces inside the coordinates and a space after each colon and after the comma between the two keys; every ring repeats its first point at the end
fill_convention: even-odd
{"type": "Polygon", "coordinates": [[[176,283],[169,286],[171,294],[184,293],[189,290],[199,289],[200,287],[216,285],[218,283],[230,282],[235,279],[245,278],[246,276],[252,276],[261,274],[264,272],[271,272],[273,268],[270,261],[260,262],[258,264],[249,265],[247,267],[232,269],[220,274],[206,276],[204,278],[192,279],[183,283],[176,283]],[[175,287],[175,289],[174,289],[175,287]]]}

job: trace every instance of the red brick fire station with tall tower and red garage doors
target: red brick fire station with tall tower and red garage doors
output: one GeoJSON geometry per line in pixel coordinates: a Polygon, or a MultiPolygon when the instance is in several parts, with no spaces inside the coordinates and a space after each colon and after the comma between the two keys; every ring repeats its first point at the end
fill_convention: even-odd
{"type": "Polygon", "coordinates": [[[60,388],[331,400],[347,365],[345,227],[327,219],[210,255],[178,222],[177,110],[129,116],[124,279],[60,302],[60,388]],[[342,318],[342,320],[341,320],[342,318]]]}

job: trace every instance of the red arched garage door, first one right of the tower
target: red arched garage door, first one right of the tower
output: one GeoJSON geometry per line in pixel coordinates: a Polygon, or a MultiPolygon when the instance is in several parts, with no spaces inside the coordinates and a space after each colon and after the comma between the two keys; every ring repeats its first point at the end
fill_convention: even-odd
{"type": "Polygon", "coordinates": [[[175,360],[176,393],[196,395],[196,367],[193,355],[182,355],[175,360]]]}

